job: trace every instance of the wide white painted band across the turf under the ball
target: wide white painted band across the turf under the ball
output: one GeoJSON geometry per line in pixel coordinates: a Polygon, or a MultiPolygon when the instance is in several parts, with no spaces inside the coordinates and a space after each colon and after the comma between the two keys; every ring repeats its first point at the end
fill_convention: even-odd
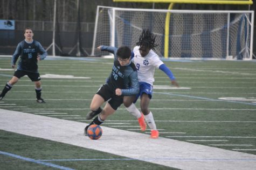
{"type": "Polygon", "coordinates": [[[86,125],[87,123],[0,109],[0,129],[17,134],[86,147],[178,169],[251,170],[256,167],[254,154],[162,137],[151,139],[147,134],[103,125],[102,137],[94,141],[83,135],[86,125]],[[43,131],[41,127],[44,127],[43,131]],[[118,135],[113,137],[113,134],[118,135]]]}

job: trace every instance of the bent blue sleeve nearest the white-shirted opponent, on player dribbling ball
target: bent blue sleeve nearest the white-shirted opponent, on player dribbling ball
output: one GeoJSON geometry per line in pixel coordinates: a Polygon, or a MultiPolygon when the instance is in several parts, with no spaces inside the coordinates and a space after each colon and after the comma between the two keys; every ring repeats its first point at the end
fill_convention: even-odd
{"type": "Polygon", "coordinates": [[[140,85],[138,80],[137,71],[133,71],[129,75],[130,79],[130,88],[128,89],[122,89],[122,95],[135,95],[138,94],[140,91],[140,85]]]}

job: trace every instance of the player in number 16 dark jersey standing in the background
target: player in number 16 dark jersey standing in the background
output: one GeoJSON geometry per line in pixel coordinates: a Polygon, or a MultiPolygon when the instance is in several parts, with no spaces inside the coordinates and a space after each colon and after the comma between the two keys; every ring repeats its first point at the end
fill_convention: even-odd
{"type": "Polygon", "coordinates": [[[25,40],[19,42],[11,60],[12,68],[14,69],[20,56],[17,69],[15,70],[11,80],[9,80],[3,88],[3,91],[0,94],[0,100],[3,99],[5,94],[11,90],[12,86],[16,84],[21,77],[27,75],[31,81],[34,82],[37,98],[36,101],[39,103],[45,102],[44,99],[41,98],[41,78],[38,72],[37,62],[44,60],[47,56],[47,52],[38,41],[33,40],[33,35],[31,28],[24,29],[25,40]]]}

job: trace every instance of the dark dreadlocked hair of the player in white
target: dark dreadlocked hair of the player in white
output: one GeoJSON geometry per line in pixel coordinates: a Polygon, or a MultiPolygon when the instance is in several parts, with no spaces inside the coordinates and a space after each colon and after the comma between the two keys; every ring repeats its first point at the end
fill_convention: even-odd
{"type": "Polygon", "coordinates": [[[143,29],[139,38],[139,42],[136,46],[145,46],[150,49],[155,49],[158,45],[155,44],[156,36],[149,31],[149,29],[143,29]]]}

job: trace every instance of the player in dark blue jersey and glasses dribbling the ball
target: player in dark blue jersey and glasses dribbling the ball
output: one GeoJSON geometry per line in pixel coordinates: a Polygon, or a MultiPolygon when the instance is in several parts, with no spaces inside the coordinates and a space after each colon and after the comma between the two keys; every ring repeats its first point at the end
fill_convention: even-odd
{"type": "MultiPolygon", "coordinates": [[[[130,61],[132,54],[130,48],[122,46],[117,49],[110,46],[99,46],[98,49],[113,53],[114,65],[106,84],[100,87],[92,99],[90,106],[91,112],[86,115],[86,119],[90,120],[98,114],[99,116],[95,117],[89,125],[100,125],[103,123],[123,103],[123,96],[139,93],[136,67],[130,61]],[[101,109],[100,106],[106,101],[105,107],[101,109]]],[[[89,125],[85,127],[85,135],[87,134],[89,125]]]]}

